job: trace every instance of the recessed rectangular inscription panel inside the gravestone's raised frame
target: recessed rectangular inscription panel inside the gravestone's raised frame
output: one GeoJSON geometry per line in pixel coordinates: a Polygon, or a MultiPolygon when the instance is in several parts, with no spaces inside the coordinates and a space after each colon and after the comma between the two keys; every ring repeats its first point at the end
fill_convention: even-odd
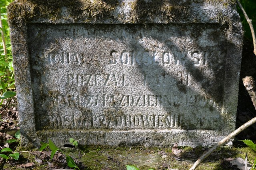
{"type": "Polygon", "coordinates": [[[37,130],[221,129],[218,24],[34,23],[28,40],[37,130]]]}

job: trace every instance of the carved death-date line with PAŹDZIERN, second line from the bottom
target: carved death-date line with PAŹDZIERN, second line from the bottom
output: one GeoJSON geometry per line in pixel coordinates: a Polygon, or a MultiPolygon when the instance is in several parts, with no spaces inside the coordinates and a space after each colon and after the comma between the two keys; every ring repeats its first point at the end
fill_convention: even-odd
{"type": "Polygon", "coordinates": [[[87,107],[179,107],[197,104],[199,106],[216,106],[216,102],[199,95],[94,95],[87,94],[76,95],[55,95],[52,97],[54,105],[62,107],[62,105],[74,106],[76,108],[87,107]]]}

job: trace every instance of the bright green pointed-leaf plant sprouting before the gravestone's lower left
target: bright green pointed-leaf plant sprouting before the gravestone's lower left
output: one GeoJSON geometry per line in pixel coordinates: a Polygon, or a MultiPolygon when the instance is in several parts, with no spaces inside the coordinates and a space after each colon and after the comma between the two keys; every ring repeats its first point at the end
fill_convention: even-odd
{"type": "MultiPolygon", "coordinates": [[[[71,138],[71,139],[72,139],[72,138],[71,138]]],[[[73,139],[73,141],[74,141],[74,139],[73,139]]],[[[60,150],[60,152],[62,152],[63,154],[66,155],[66,161],[67,161],[68,166],[69,166],[70,168],[74,168],[74,169],[80,170],[80,169],[78,168],[78,166],[76,165],[74,159],[73,159],[71,156],[69,156],[68,154],[66,154],[65,152],[63,152],[63,150],[61,150],[61,149],[59,149],[58,147],[56,147],[56,145],[55,145],[50,139],[49,139],[49,142],[48,142],[48,143],[43,143],[43,142],[41,142],[41,144],[42,144],[42,146],[40,147],[40,151],[41,151],[41,150],[44,150],[46,147],[50,147],[50,149],[52,150],[52,153],[51,153],[51,156],[50,156],[51,159],[53,158],[54,154],[55,154],[58,150],[60,150]]]]}

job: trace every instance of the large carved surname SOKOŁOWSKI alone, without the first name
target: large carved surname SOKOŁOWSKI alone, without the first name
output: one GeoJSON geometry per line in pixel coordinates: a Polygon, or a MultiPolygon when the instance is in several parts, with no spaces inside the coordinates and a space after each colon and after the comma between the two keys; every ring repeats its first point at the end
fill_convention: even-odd
{"type": "Polygon", "coordinates": [[[194,66],[208,64],[208,52],[205,51],[171,51],[171,52],[156,52],[156,51],[122,51],[118,53],[115,50],[110,52],[113,59],[109,60],[110,64],[116,65],[185,65],[193,63],[194,66]]]}

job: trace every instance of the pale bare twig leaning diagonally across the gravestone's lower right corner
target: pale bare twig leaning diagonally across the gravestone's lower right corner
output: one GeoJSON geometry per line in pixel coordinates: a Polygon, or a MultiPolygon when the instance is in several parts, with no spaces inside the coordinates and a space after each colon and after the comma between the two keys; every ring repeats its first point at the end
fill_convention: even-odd
{"type": "Polygon", "coordinates": [[[228,142],[230,139],[232,139],[233,137],[235,137],[236,135],[238,135],[240,132],[242,132],[244,129],[246,129],[247,127],[253,125],[254,123],[256,123],[256,117],[254,117],[253,119],[251,119],[250,121],[244,123],[244,125],[240,126],[238,129],[236,129],[235,131],[233,131],[232,133],[230,133],[227,137],[225,137],[224,139],[222,139],[219,143],[217,143],[216,145],[214,145],[210,150],[208,150],[207,152],[205,152],[204,154],[202,154],[202,156],[200,156],[200,158],[198,158],[198,160],[194,163],[194,165],[189,169],[189,170],[194,170],[196,169],[196,167],[202,162],[202,160],[204,160],[204,158],[206,158],[207,156],[209,156],[214,150],[216,150],[218,147],[224,145],[226,142],[228,142]]]}

